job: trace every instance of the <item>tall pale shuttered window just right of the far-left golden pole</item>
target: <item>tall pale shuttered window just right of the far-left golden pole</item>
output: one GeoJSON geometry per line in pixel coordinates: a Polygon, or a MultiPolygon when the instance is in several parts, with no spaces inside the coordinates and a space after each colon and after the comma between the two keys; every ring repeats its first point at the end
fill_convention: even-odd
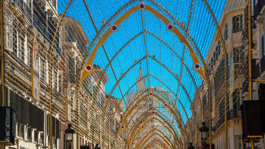
{"type": "Polygon", "coordinates": [[[10,13],[6,13],[4,15],[4,27],[5,27],[5,43],[6,43],[6,49],[10,50],[10,51],[13,51],[12,48],[13,48],[13,40],[12,40],[12,27],[13,27],[13,17],[12,17],[12,14],[10,13]]]}

